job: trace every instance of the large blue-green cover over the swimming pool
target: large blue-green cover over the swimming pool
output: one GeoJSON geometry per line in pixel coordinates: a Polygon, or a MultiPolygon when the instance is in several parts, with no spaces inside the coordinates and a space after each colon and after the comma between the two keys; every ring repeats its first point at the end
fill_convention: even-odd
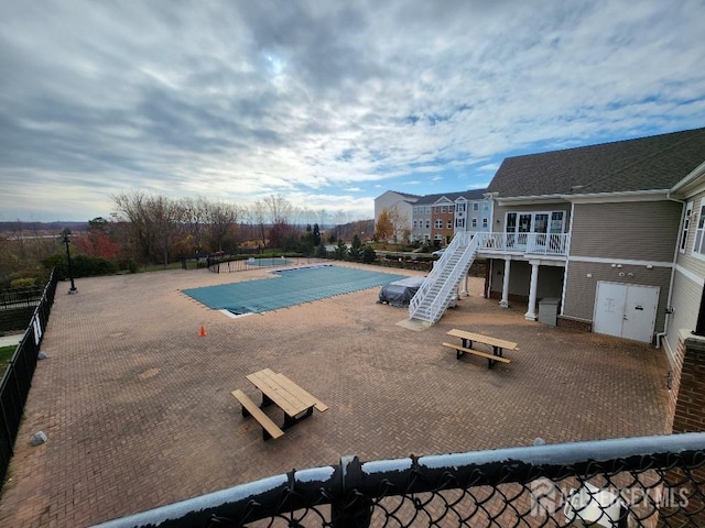
{"type": "Polygon", "coordinates": [[[214,310],[228,310],[235,315],[261,314],[404,278],[403,275],[332,265],[278,270],[272,274],[272,278],[183,292],[214,310]]]}

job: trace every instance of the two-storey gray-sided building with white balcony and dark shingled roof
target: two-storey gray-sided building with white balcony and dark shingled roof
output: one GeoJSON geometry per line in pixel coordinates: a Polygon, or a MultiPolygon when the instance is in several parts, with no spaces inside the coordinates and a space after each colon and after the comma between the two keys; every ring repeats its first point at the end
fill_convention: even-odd
{"type": "Polygon", "coordinates": [[[558,324],[647,342],[677,317],[692,324],[676,316],[676,297],[686,310],[699,302],[705,260],[677,250],[686,204],[674,190],[692,198],[687,243],[703,245],[693,175],[704,161],[705,129],[505,160],[487,189],[487,295],[528,301],[530,320],[542,298],[556,298],[558,324]]]}

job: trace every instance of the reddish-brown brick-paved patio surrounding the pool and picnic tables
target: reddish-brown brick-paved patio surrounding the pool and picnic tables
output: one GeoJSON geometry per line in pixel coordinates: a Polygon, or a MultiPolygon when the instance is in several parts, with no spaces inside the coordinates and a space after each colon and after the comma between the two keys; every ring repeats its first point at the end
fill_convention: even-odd
{"type": "Polygon", "coordinates": [[[528,322],[525,307],[482,299],[481,279],[421,332],[397,324],[406,310],[377,304],[379,288],[238,319],[180,292],[268,272],[86,278],[78,295],[57,294],[0,526],[88,526],[348,454],[664,432],[661,351],[528,322]],[[491,371],[479,358],[457,361],[441,346],[451,328],[518,341],[521,351],[491,371]],[[263,367],[329,409],[262,441],[230,392],[257,398],[245,376],[263,367]],[[31,448],[37,430],[48,440],[31,448]]]}

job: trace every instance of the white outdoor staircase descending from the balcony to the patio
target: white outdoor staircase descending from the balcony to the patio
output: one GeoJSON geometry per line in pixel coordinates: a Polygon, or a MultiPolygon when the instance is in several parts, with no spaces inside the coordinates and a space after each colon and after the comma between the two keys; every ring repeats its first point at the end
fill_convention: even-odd
{"type": "Polygon", "coordinates": [[[482,233],[457,233],[409,304],[409,319],[438,322],[456,298],[457,287],[467,275],[482,233]]]}

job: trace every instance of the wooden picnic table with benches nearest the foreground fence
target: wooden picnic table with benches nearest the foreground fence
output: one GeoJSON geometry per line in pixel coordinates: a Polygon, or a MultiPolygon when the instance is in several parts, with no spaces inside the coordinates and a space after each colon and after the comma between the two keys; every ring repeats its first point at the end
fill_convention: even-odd
{"type": "Polygon", "coordinates": [[[314,408],[321,413],[328,409],[328,406],[318,398],[283,374],[275,373],[270,369],[263,369],[245,377],[260,389],[262,403],[257,406],[240,389],[232,391],[231,394],[242,406],[242,416],[252,416],[262,426],[264,440],[280,438],[284,435],[285,429],[313,415],[314,408]],[[281,428],[262,411],[263,408],[272,404],[284,411],[284,424],[281,428]]]}

